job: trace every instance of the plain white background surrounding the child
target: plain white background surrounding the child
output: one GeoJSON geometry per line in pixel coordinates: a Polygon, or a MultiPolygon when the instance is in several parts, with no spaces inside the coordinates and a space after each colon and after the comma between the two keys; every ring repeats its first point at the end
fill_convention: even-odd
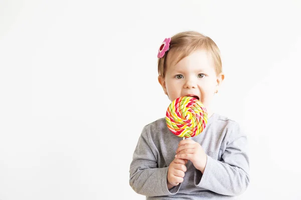
{"type": "Polygon", "coordinates": [[[219,46],[215,111],[249,139],[242,199],[300,199],[301,2],[0,0],[0,199],[144,199],[129,186],[142,127],[170,101],[165,37],[219,46]]]}

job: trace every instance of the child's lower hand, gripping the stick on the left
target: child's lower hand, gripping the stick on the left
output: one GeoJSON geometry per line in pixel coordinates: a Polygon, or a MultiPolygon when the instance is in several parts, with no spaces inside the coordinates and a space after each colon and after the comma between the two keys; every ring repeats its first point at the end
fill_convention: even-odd
{"type": "Polygon", "coordinates": [[[186,168],[184,159],[175,158],[168,167],[167,187],[168,189],[183,182],[186,168]]]}

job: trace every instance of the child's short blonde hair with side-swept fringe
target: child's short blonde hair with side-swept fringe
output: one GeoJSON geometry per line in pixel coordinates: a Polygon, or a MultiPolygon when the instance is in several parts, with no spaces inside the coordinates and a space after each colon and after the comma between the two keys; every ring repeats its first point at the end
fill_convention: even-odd
{"type": "Polygon", "coordinates": [[[220,50],[216,43],[208,36],[205,36],[196,31],[179,32],[171,37],[170,47],[162,58],[158,58],[158,73],[165,77],[167,68],[166,60],[170,51],[176,52],[178,55],[178,63],[181,59],[188,56],[197,49],[205,49],[213,58],[216,74],[222,72],[222,61],[220,57],[220,50]]]}

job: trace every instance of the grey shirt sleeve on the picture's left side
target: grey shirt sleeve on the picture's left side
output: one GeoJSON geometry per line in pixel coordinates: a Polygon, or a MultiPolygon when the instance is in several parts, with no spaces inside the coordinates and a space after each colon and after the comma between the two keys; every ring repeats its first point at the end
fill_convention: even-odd
{"type": "Polygon", "coordinates": [[[144,127],[129,169],[129,184],[135,192],[145,196],[162,196],[175,194],[179,191],[180,184],[171,190],[168,189],[168,166],[158,168],[158,153],[155,143],[149,139],[144,127]]]}

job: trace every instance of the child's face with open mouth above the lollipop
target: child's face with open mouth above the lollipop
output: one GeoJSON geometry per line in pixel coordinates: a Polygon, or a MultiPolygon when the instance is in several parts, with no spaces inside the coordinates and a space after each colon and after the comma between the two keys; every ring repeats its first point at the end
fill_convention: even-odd
{"type": "Polygon", "coordinates": [[[215,91],[224,79],[224,74],[216,74],[210,54],[199,49],[178,63],[169,58],[166,76],[159,76],[159,82],[170,100],[180,96],[195,96],[209,108],[215,91]]]}

